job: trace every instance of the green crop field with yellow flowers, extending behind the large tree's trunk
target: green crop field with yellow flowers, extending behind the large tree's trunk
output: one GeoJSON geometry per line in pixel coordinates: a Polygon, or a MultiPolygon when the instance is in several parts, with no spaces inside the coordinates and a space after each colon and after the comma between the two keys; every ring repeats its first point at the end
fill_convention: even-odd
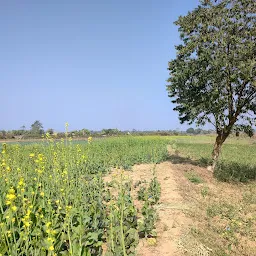
{"type": "MultiPolygon", "coordinates": [[[[139,234],[154,234],[158,181],[152,176],[148,189],[139,191],[144,206],[138,223],[131,184],[122,171],[115,193],[104,175],[113,168],[175,160],[170,146],[180,160],[207,164],[213,141],[207,136],[127,136],[76,143],[48,137],[43,143],[2,144],[0,255],[89,256],[104,250],[106,255],[135,255],[139,234]]],[[[218,168],[222,179],[255,179],[256,144],[231,139],[218,168]]]]}

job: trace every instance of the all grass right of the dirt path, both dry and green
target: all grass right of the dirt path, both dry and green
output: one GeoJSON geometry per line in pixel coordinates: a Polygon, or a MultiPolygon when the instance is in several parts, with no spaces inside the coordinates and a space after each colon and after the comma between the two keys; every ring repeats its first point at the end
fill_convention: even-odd
{"type": "Polygon", "coordinates": [[[211,162],[212,143],[213,140],[206,137],[187,141],[179,138],[174,142],[178,155],[173,155],[171,160],[193,166],[189,172],[186,172],[189,166],[184,166],[185,177],[191,182],[197,182],[202,174],[206,177],[203,187],[184,188],[181,183],[183,196],[193,206],[187,211],[193,224],[182,245],[190,256],[256,255],[255,139],[227,141],[215,171],[217,180],[200,168],[211,162]]]}

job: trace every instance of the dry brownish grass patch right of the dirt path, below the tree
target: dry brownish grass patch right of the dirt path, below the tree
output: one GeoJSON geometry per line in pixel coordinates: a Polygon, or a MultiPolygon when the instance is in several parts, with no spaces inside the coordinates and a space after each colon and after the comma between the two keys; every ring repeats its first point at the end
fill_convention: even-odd
{"type": "Polygon", "coordinates": [[[184,254],[256,255],[256,182],[223,183],[213,179],[205,168],[175,166],[184,175],[193,169],[194,175],[205,181],[194,184],[180,175],[180,190],[191,205],[186,213],[194,220],[190,232],[180,241],[184,254]],[[201,248],[201,252],[195,254],[195,248],[201,248]]]}

